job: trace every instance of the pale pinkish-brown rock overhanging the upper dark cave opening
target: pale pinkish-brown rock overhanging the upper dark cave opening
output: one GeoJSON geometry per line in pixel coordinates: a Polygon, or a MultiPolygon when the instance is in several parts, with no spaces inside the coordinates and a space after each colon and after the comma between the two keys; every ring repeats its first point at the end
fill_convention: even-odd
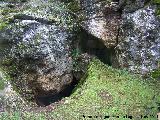
{"type": "Polygon", "coordinates": [[[98,0],[80,1],[82,9],[80,13],[85,16],[82,21],[84,29],[102,40],[107,48],[116,46],[120,22],[118,4],[98,0]]]}

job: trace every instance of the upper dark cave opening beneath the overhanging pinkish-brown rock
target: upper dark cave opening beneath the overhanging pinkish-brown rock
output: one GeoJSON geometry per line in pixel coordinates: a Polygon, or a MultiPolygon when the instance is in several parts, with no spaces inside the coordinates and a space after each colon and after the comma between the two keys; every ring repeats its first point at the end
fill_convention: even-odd
{"type": "Polygon", "coordinates": [[[114,47],[107,48],[102,40],[89,34],[84,29],[81,29],[80,36],[81,38],[78,46],[80,46],[80,49],[83,53],[96,56],[104,64],[114,66],[114,62],[116,61],[114,47]]]}

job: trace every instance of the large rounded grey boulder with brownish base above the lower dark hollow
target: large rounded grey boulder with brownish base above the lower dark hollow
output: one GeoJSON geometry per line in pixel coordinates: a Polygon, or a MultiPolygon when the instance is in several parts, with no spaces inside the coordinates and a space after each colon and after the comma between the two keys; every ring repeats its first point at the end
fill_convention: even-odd
{"type": "Polygon", "coordinates": [[[57,22],[67,13],[52,5],[45,0],[31,1],[0,31],[0,40],[10,43],[2,64],[22,93],[31,89],[37,96],[56,94],[73,80],[71,31],[66,21],[57,22]],[[50,15],[54,14],[60,17],[53,20],[50,15]]]}

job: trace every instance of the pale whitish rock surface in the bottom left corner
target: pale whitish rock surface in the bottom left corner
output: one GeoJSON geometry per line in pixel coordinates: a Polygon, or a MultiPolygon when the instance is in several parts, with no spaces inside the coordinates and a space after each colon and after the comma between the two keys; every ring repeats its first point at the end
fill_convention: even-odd
{"type": "Polygon", "coordinates": [[[5,75],[0,71],[0,113],[25,110],[30,108],[28,104],[16,91],[5,75]]]}

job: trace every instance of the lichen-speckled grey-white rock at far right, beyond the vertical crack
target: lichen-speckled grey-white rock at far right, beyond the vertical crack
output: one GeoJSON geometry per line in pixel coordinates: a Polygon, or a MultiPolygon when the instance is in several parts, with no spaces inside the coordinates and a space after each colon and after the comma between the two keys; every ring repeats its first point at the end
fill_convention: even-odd
{"type": "Polygon", "coordinates": [[[157,69],[160,60],[160,20],[156,6],[146,6],[133,13],[122,14],[117,46],[121,68],[147,74],[157,69]]]}

